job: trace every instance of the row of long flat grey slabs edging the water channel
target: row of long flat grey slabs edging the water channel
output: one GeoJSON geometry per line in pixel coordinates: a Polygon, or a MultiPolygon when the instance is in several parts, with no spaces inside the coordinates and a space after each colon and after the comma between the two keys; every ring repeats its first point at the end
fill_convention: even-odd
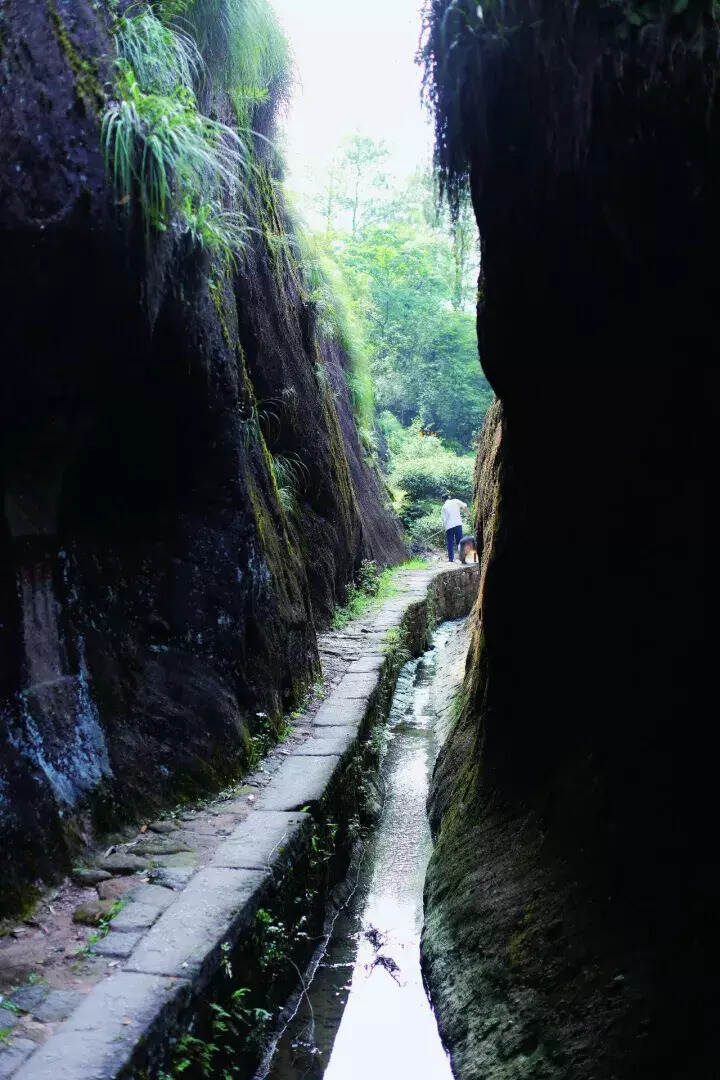
{"type": "Polygon", "coordinates": [[[437,568],[408,573],[403,595],[381,608],[371,631],[358,636],[363,654],[321,706],[310,739],[288,753],[273,774],[254,812],[219,846],[208,865],[190,872],[185,888],[178,882],[173,893],[158,885],[146,886],[133,895],[113,929],[96,945],[98,953],[124,960],[123,969],[94,986],[35,1052],[18,1045],[13,1064],[19,1068],[3,1076],[113,1080],[141,1064],[151,1044],[159,1045],[173,1030],[191,999],[220,969],[223,947],[232,949],[249,931],[274,879],[308,845],[312,818],[307,811],[325,800],[341,780],[376,703],[386,631],[399,626],[426,598],[431,583],[447,572],[437,568]]]}

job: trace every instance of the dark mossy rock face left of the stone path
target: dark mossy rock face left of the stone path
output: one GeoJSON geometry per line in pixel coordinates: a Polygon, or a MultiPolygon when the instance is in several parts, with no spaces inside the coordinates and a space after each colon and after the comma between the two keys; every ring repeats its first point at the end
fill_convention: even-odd
{"type": "Polygon", "coordinates": [[[403,554],[340,428],[297,268],[271,272],[258,241],[218,283],[186,238],[149,251],[116,213],[94,6],[9,0],[0,22],[9,908],[93,829],[236,774],[258,714],[312,678],[315,619],[363,558],[403,554]],[[302,462],[295,517],[269,448],[302,462]]]}

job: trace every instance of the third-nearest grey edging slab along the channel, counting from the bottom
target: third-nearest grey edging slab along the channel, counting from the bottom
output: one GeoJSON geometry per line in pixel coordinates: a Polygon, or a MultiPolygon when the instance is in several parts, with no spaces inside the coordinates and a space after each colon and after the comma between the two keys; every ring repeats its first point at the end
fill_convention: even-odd
{"type": "Polygon", "coordinates": [[[259,809],[215,852],[210,866],[255,870],[284,866],[310,826],[310,814],[259,809]]]}

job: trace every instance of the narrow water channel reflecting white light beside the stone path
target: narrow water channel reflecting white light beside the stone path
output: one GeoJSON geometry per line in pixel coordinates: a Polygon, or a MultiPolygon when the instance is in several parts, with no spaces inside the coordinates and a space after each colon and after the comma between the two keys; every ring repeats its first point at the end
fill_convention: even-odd
{"type": "Polygon", "coordinates": [[[403,669],[388,725],[384,802],[357,886],[268,1080],[452,1080],[420,972],[422,889],[431,853],[425,800],[438,728],[461,677],[463,621],[403,669]]]}

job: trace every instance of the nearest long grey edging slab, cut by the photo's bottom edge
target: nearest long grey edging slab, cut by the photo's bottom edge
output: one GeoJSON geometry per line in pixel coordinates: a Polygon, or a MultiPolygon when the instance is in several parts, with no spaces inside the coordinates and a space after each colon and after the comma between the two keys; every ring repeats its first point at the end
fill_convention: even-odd
{"type": "MultiPolygon", "coordinates": [[[[187,1001],[190,984],[120,972],[98,983],[79,1009],[16,1072],[17,1080],[110,1080],[159,1013],[187,1001]]],[[[35,1044],[32,1044],[35,1049],[35,1044]]],[[[2,1074],[0,1074],[2,1076],[2,1074]]]]}

